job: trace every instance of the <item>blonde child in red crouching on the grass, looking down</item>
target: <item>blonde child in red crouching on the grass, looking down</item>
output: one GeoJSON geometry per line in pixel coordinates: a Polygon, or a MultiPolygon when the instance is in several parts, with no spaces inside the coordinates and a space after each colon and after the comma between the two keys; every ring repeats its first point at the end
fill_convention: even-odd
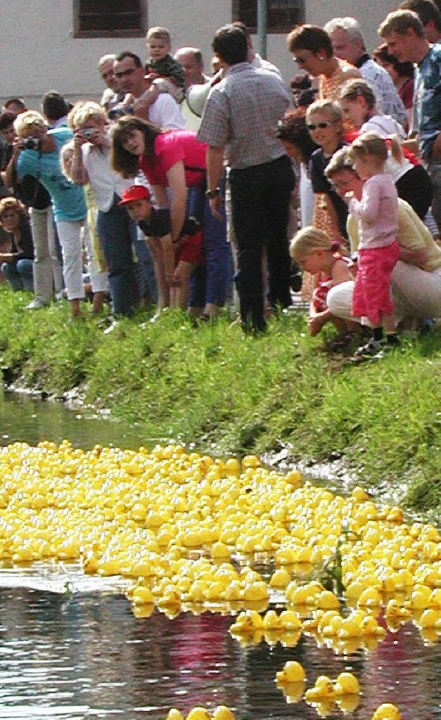
{"type": "Polygon", "coordinates": [[[333,323],[341,337],[331,345],[334,351],[344,350],[360,330],[353,320],[342,320],[333,315],[326,303],[331,287],[352,279],[349,258],[342,255],[338,240],[332,240],[322,230],[310,226],[299,230],[291,240],[290,255],[303,270],[316,278],[311,305],[309,307],[308,329],[317,335],[326,323],[333,323]]]}

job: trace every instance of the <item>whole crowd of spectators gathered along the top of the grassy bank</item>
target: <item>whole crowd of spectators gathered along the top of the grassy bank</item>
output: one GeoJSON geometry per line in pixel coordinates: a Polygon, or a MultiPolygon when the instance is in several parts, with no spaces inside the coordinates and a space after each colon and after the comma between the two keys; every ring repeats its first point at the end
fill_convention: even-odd
{"type": "Polygon", "coordinates": [[[310,300],[308,328],[331,348],[372,337],[378,358],[399,331],[441,317],[441,12],[404,0],[367,53],[360,24],[295,27],[290,92],[242,22],[172,53],[151,27],[145,63],[99,59],[101,102],[55,91],[41,112],[19,98],[0,114],[0,261],[37,310],[86,293],[113,320],[150,302],[213,321],[232,279],[248,333],[310,300]],[[290,240],[290,238],[292,238],[290,240]]]}

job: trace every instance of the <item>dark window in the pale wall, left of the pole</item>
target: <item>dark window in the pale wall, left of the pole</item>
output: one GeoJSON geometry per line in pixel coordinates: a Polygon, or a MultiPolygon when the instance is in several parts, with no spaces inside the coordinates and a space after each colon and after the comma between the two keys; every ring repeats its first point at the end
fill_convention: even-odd
{"type": "Polygon", "coordinates": [[[74,0],[74,37],[142,37],[147,0],[74,0]]]}

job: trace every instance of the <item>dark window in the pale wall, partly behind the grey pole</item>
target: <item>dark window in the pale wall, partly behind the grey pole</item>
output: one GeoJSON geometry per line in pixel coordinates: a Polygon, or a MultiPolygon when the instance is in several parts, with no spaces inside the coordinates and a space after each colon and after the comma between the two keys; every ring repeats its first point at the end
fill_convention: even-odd
{"type": "MultiPolygon", "coordinates": [[[[233,20],[256,32],[257,0],[233,0],[233,20]]],[[[290,32],[301,22],[305,22],[304,0],[267,0],[267,32],[290,32]]]]}

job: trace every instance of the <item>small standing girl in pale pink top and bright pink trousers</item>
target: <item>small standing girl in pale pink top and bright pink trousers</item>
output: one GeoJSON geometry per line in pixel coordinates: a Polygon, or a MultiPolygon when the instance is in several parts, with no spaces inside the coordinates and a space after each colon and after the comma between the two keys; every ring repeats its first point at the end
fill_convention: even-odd
{"type": "Polygon", "coordinates": [[[360,235],[352,315],[364,315],[373,327],[373,337],[355,353],[354,360],[360,362],[381,356],[398,343],[391,295],[391,273],[399,253],[398,196],[391,176],[385,172],[388,145],[378,132],[360,135],[352,143],[349,156],[364,181],[360,200],[353,193],[347,194],[349,212],[358,219],[360,235]]]}

